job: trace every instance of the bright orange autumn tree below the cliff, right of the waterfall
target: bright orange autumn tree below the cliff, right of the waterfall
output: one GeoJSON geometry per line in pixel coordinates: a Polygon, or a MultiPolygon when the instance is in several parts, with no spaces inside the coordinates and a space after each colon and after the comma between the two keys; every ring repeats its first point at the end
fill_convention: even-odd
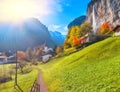
{"type": "Polygon", "coordinates": [[[112,24],[110,24],[109,22],[104,22],[101,25],[98,33],[99,34],[110,34],[110,32],[112,31],[113,28],[114,28],[114,26],[112,24]]]}

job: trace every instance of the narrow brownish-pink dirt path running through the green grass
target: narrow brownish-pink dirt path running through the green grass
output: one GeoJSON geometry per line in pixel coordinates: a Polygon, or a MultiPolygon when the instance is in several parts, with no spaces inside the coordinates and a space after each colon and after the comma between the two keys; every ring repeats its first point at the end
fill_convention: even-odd
{"type": "Polygon", "coordinates": [[[42,79],[42,71],[39,70],[38,83],[40,84],[40,92],[48,92],[47,86],[42,79]]]}

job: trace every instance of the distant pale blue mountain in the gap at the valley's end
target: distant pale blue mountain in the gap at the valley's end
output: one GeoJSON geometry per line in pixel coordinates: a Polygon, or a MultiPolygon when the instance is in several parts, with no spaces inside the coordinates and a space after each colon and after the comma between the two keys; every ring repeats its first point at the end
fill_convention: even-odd
{"type": "Polygon", "coordinates": [[[63,42],[65,41],[65,36],[63,36],[60,32],[58,31],[49,31],[52,40],[54,41],[54,43],[57,46],[60,46],[63,44],[63,42]]]}

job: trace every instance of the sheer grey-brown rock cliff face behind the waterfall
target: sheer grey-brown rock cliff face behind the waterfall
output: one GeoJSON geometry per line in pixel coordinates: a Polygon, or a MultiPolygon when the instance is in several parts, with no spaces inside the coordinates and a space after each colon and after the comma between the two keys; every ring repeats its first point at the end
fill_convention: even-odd
{"type": "Polygon", "coordinates": [[[87,20],[92,24],[93,14],[97,27],[105,21],[114,26],[120,24],[120,0],[92,0],[87,9],[87,20]]]}

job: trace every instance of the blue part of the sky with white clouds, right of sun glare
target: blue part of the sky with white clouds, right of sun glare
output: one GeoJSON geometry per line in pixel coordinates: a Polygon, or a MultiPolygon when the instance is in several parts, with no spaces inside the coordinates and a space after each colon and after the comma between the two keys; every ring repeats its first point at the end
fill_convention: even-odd
{"type": "MultiPolygon", "coordinates": [[[[53,15],[48,25],[49,30],[67,33],[67,25],[75,18],[86,15],[87,5],[90,0],[63,0],[60,2],[62,10],[53,15]]],[[[46,21],[47,22],[47,21],[46,21]]]]}

